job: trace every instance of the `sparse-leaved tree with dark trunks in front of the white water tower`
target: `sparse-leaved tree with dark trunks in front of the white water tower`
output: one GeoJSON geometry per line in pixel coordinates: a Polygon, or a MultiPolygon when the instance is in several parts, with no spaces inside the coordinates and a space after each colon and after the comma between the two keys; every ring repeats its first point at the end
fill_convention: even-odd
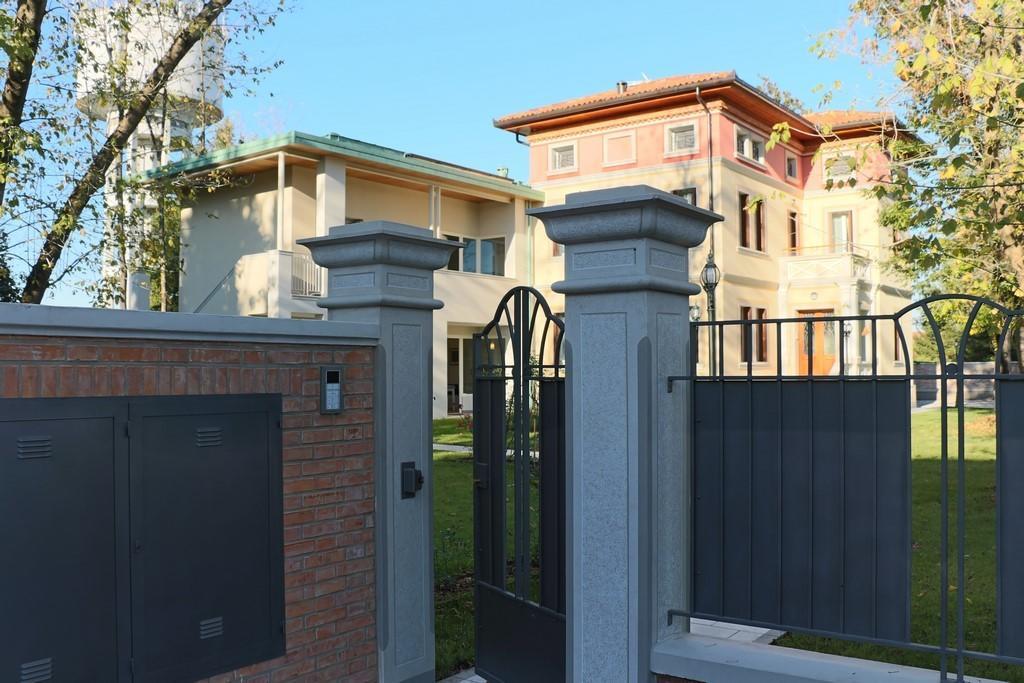
{"type": "MultiPolygon", "coordinates": [[[[47,0],[18,0],[13,14],[0,12],[0,47],[7,56],[0,109],[0,230],[8,236],[20,231],[15,244],[40,245],[25,263],[23,301],[41,302],[54,282],[95,260],[95,247],[102,242],[90,237],[102,231],[95,229],[102,222],[96,195],[111,181],[112,169],[112,189],[124,191],[121,181],[130,180],[120,170],[125,145],[166,98],[168,83],[189,50],[213,32],[222,31],[225,40],[230,36],[236,43],[263,33],[282,2],[120,0],[104,20],[113,35],[127,38],[110,46],[108,58],[97,58],[92,46],[76,35],[76,28],[89,22],[93,5],[86,0],[52,7],[47,0]],[[132,55],[141,47],[132,43],[136,38],[131,33],[139,15],[175,19],[168,25],[172,39],[160,45],[143,76],[127,78],[132,55]],[[76,74],[109,86],[98,96],[116,116],[96,122],[80,109],[76,74]]],[[[245,82],[274,66],[236,55],[225,69],[245,82]]],[[[200,121],[201,141],[209,123],[200,121]]],[[[115,220],[116,226],[123,224],[115,220]]]]}

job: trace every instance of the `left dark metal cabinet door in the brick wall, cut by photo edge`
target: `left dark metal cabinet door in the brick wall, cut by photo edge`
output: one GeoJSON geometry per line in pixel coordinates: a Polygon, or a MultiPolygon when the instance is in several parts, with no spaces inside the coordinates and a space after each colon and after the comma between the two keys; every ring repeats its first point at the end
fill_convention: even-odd
{"type": "Polygon", "coordinates": [[[127,680],[125,408],[0,400],[0,680],[127,680]]]}

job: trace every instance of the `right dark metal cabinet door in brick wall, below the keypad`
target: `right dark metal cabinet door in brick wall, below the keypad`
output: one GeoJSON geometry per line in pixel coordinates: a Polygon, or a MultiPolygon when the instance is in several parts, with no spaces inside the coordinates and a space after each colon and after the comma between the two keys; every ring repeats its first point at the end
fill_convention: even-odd
{"type": "Polygon", "coordinates": [[[284,654],[281,397],[140,398],[130,416],[136,672],[284,654]]]}

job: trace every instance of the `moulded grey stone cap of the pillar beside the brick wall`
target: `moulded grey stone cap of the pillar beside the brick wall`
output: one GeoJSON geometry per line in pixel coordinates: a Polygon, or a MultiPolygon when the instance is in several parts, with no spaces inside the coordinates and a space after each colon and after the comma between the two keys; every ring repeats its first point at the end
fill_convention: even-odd
{"type": "Polygon", "coordinates": [[[433,271],[447,265],[462,244],[430,230],[388,220],[335,225],[330,234],[299,240],[313,261],[328,268],[322,308],[435,309],[433,271]]]}

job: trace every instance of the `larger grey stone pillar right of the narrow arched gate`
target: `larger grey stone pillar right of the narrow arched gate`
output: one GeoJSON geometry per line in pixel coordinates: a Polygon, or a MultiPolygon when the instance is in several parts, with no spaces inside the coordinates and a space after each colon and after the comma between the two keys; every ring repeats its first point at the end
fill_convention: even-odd
{"type": "Polygon", "coordinates": [[[646,185],[530,212],[565,245],[573,683],[653,681],[689,595],[689,255],[722,217],[646,185]]]}

